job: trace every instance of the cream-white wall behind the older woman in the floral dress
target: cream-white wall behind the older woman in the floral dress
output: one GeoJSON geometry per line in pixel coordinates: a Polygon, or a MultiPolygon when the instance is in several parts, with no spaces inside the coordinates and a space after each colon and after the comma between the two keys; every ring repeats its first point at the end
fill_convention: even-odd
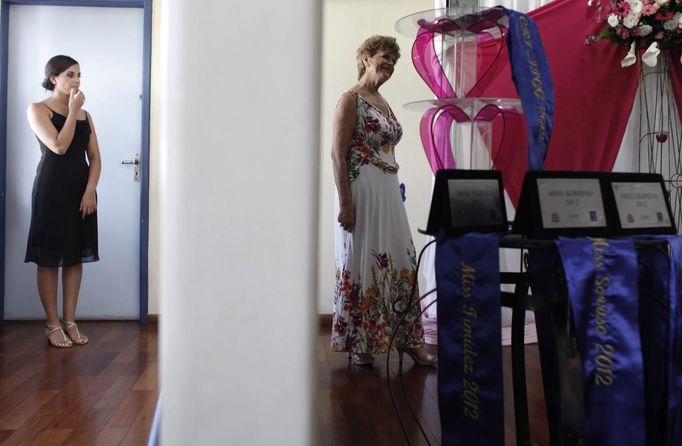
{"type": "MultiPolygon", "coordinates": [[[[396,20],[419,11],[433,9],[433,0],[325,0],[323,11],[322,92],[320,111],[320,213],[318,242],[318,311],[332,312],[334,303],[334,177],[331,166],[331,120],[336,102],[344,91],[357,82],[355,52],[373,34],[391,35],[398,39],[401,58],[393,77],[381,87],[381,94],[391,104],[403,125],[403,138],[396,157],[398,176],[407,186],[408,218],[417,250],[424,236],[417,228],[426,227],[431,200],[431,170],[419,139],[421,114],[403,109],[403,104],[429,99],[433,94],[412,66],[414,36],[401,36],[395,30],[396,20]]],[[[416,33],[416,30],[415,30],[416,33]]]]}

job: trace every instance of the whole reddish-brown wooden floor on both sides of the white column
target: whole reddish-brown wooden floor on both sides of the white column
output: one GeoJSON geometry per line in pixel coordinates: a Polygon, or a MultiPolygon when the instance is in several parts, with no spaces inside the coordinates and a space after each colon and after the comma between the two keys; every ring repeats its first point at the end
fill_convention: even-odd
{"type": "MultiPolygon", "coordinates": [[[[0,327],[0,445],[145,445],[158,396],[157,326],[83,322],[86,346],[49,347],[41,323],[0,327]]],[[[317,444],[438,445],[436,370],[405,359],[406,393],[424,427],[411,419],[391,355],[391,382],[405,418],[405,439],[391,404],[386,355],[372,368],[350,365],[329,351],[329,328],[317,343],[317,444]]],[[[509,350],[504,348],[505,435],[514,445],[509,350]]],[[[533,443],[549,444],[537,348],[526,347],[533,443]]]]}

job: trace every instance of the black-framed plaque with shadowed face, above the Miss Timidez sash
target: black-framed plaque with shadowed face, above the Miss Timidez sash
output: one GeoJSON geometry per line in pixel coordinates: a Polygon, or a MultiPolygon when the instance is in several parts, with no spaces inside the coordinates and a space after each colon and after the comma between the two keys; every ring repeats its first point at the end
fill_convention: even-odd
{"type": "Polygon", "coordinates": [[[436,173],[426,234],[506,232],[502,175],[494,170],[443,169],[436,173]]]}

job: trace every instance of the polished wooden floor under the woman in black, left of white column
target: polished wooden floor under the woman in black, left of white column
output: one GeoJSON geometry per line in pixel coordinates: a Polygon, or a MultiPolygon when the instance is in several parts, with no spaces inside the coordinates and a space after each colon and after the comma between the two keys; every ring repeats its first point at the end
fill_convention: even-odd
{"type": "Polygon", "coordinates": [[[85,346],[43,324],[0,327],[0,444],[145,445],[158,395],[157,326],[82,322],[85,346]]]}

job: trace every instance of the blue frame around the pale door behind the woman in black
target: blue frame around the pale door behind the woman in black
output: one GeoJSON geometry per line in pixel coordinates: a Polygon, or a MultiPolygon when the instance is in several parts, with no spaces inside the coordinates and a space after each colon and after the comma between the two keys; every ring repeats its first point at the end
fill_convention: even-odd
{"type": "Polygon", "coordinates": [[[0,326],[5,320],[5,222],[7,179],[7,72],[10,5],[143,8],[142,126],[140,132],[140,315],[149,306],[149,107],[151,85],[152,0],[0,0],[0,326]]]}

